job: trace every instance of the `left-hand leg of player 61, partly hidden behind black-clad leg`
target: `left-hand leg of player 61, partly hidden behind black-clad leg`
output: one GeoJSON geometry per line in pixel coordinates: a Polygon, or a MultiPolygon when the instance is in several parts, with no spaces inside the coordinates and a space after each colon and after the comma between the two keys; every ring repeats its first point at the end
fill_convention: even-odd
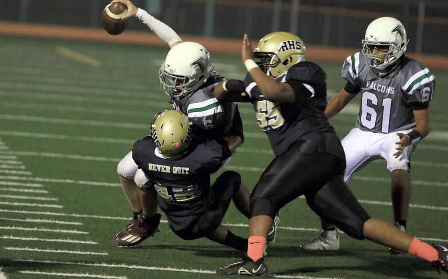
{"type": "MultiPolygon", "coordinates": [[[[344,175],[346,182],[370,162],[369,140],[371,136],[371,132],[353,128],[341,141],[347,162],[344,175]]],[[[309,251],[336,251],[339,249],[339,231],[336,226],[325,220],[321,220],[321,226],[322,229],[318,237],[302,245],[302,249],[309,251]]]]}

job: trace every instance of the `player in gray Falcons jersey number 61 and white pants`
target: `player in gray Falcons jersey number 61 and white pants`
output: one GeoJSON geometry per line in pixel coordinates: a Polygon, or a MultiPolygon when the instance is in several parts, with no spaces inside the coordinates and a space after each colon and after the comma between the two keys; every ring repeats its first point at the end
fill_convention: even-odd
{"type": "MultiPolygon", "coordinates": [[[[340,112],[359,92],[356,127],[342,140],[347,168],[344,181],[368,163],[385,159],[390,172],[394,224],[405,231],[411,198],[411,157],[417,142],[429,134],[428,107],[435,78],[418,61],[404,55],[406,30],[395,18],[374,20],[362,40],[362,51],[347,57],[342,77],[347,84],[328,103],[327,118],[340,112]]],[[[322,221],[318,238],[305,250],[338,250],[335,226],[322,221]]],[[[390,249],[391,254],[399,251],[390,249]]]]}

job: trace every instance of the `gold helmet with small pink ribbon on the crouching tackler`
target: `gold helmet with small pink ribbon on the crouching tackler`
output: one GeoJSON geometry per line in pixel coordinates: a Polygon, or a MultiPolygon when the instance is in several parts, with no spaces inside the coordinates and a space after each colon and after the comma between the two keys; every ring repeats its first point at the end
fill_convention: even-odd
{"type": "Polygon", "coordinates": [[[151,136],[163,158],[177,160],[188,152],[192,142],[191,125],[188,116],[180,111],[164,111],[154,116],[151,136]]]}

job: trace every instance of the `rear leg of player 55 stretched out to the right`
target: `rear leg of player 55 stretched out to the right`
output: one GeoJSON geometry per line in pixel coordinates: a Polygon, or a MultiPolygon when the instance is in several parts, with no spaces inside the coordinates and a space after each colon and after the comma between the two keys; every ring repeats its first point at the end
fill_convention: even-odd
{"type": "Polygon", "coordinates": [[[423,258],[432,266],[443,266],[447,255],[417,238],[407,235],[383,220],[370,218],[340,177],[326,183],[318,192],[306,195],[308,205],[322,218],[331,220],[347,235],[367,238],[378,244],[423,258]]]}

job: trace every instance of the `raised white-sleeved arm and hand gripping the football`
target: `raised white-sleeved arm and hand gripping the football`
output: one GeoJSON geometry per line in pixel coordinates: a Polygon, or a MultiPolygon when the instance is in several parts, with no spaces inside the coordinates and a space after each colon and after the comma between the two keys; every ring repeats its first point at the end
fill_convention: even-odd
{"type": "Polygon", "coordinates": [[[146,24],[148,28],[151,29],[156,35],[159,36],[170,48],[173,48],[175,45],[182,43],[182,39],[179,35],[169,26],[156,19],[145,10],[141,8],[137,8],[131,1],[129,0],[113,0],[112,2],[120,2],[126,5],[128,8],[128,13],[122,17],[122,19],[127,19],[130,17],[137,17],[141,22],[146,24]]]}

